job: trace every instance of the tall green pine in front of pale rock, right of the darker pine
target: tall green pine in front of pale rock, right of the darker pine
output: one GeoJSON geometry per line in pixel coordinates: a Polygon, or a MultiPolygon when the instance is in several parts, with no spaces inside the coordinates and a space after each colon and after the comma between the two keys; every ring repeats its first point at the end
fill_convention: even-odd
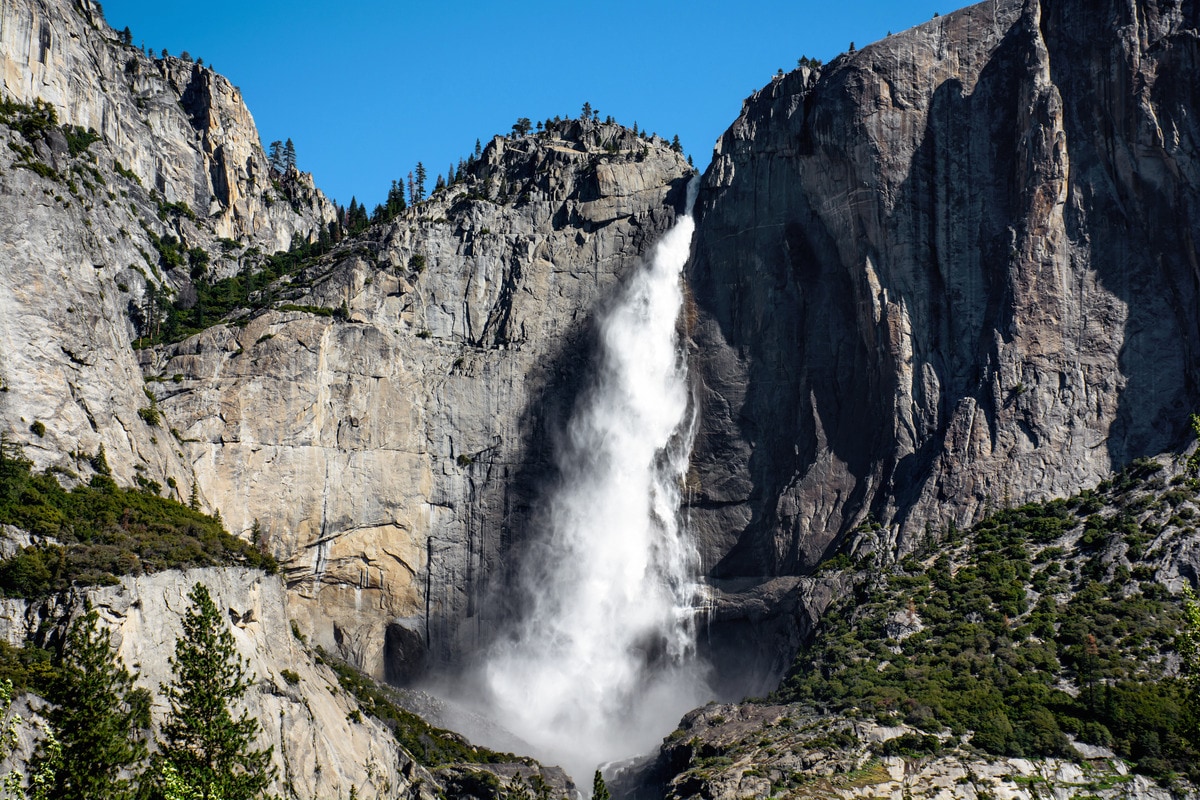
{"type": "Polygon", "coordinates": [[[228,622],[204,584],[197,583],[188,599],[184,636],[170,660],[175,678],[162,687],[170,703],[160,742],[163,766],[202,800],[263,796],[275,777],[271,748],[253,748],[258,720],[245,710],[234,718],[230,711],[250,686],[248,662],[238,655],[228,622]]]}

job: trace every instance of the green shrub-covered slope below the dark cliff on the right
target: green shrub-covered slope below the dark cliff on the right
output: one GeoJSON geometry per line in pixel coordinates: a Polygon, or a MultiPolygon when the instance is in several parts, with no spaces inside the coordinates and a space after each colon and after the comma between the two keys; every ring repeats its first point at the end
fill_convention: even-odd
{"type": "Polygon", "coordinates": [[[1195,534],[1198,487],[1160,471],[1135,462],[1096,491],[950,527],[936,555],[860,573],[776,699],[970,734],[997,756],[1072,757],[1082,741],[1144,774],[1200,780],[1183,604],[1156,579],[1176,537],[1195,534]]]}

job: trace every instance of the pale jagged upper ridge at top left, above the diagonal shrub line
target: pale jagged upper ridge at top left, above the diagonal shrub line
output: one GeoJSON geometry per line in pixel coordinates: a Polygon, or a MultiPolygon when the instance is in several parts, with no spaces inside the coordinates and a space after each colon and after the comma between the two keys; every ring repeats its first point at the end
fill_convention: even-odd
{"type": "Polygon", "coordinates": [[[146,188],[186,203],[217,236],[272,252],[335,218],[308,175],[298,175],[294,204],[268,200],[272,176],[236,86],[210,67],[122,44],[90,0],[5,2],[0,89],[95,130],[146,188]]]}

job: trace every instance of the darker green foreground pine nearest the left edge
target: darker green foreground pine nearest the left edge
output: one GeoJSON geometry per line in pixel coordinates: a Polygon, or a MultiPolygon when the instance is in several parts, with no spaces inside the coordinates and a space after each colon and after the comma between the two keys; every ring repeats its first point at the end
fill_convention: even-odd
{"type": "MultiPolygon", "coordinates": [[[[138,772],[146,757],[142,732],[150,724],[150,694],[113,652],[100,615],[84,607],[67,632],[59,679],[46,711],[61,746],[50,796],[60,800],[133,796],[121,770],[138,772]]],[[[53,760],[43,750],[40,760],[53,760]]]]}

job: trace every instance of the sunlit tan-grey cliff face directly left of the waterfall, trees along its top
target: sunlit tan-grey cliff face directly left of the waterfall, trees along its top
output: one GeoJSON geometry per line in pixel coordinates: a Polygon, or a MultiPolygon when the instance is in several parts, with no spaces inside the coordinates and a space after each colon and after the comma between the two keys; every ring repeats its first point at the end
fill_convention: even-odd
{"type": "Polygon", "coordinates": [[[203,498],[232,530],[259,523],[316,643],[403,682],[486,638],[590,320],[690,172],[616,125],[496,138],[464,182],[293,281],[292,305],[344,313],[268,311],[145,354],[203,498]]]}

